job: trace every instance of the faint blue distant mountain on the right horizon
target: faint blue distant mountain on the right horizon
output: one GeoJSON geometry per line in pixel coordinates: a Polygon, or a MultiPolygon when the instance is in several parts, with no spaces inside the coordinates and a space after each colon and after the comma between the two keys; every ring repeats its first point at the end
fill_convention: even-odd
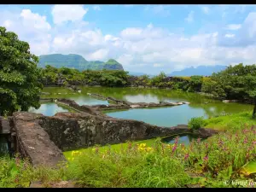
{"type": "Polygon", "coordinates": [[[224,70],[227,66],[199,66],[199,67],[189,67],[181,71],[176,71],[168,74],[168,76],[192,76],[192,75],[202,75],[210,76],[212,73],[218,73],[224,70]]]}

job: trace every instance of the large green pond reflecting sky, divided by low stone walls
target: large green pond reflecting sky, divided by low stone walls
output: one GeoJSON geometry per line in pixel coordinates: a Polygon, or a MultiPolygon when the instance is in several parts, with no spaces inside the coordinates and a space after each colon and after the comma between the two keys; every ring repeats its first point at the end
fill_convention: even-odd
{"type": "MultiPolygon", "coordinates": [[[[144,89],[144,88],[106,88],[106,87],[85,87],[79,86],[81,93],[62,87],[45,87],[44,92],[49,95],[42,95],[42,98],[68,98],[77,102],[79,105],[108,104],[87,93],[97,93],[102,96],[112,96],[116,99],[128,102],[190,102],[182,106],[169,108],[137,108],[119,111],[107,111],[108,116],[121,119],[142,120],[152,125],[173,126],[187,124],[193,117],[203,116],[205,118],[220,115],[222,113],[239,113],[242,111],[253,110],[252,105],[241,103],[224,103],[212,100],[207,96],[196,93],[179,92],[167,89],[144,89]]],[[[39,109],[40,113],[53,115],[66,109],[45,104],[39,109]]]]}

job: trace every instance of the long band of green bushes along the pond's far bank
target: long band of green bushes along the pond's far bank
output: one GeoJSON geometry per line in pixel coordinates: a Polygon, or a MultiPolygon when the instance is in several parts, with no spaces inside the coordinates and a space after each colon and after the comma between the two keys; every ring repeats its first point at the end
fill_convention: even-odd
{"type": "Polygon", "coordinates": [[[201,90],[203,82],[201,76],[166,77],[165,73],[160,73],[150,79],[147,75],[136,77],[121,70],[102,69],[101,71],[79,72],[77,69],[55,68],[49,65],[41,70],[44,74],[41,80],[45,85],[149,86],[195,92],[201,90]]]}

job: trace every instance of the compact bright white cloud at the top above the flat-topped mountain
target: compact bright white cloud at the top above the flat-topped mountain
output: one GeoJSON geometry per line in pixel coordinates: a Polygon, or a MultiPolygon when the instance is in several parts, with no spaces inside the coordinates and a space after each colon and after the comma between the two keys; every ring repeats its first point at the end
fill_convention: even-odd
{"type": "Polygon", "coordinates": [[[83,5],[55,5],[51,11],[55,24],[61,24],[65,21],[82,20],[88,9],[83,5]]]}

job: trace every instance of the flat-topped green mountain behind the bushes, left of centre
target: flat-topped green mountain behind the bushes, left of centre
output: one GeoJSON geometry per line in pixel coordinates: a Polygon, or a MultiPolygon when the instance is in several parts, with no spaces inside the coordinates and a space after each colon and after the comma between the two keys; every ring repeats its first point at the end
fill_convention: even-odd
{"type": "Polygon", "coordinates": [[[107,62],[103,61],[86,61],[83,56],[69,54],[51,54],[51,55],[40,55],[38,67],[45,67],[50,65],[52,67],[69,67],[79,69],[80,71],[90,69],[90,70],[124,70],[123,66],[113,59],[107,62]]]}

